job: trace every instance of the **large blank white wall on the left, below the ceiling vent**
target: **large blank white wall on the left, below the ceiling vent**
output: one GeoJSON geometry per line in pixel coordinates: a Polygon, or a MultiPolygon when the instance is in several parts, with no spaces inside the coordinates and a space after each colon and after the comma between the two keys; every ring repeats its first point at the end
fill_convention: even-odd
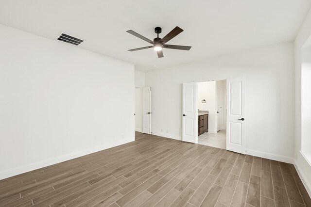
{"type": "Polygon", "coordinates": [[[133,64],[0,25],[0,95],[0,179],[135,139],[133,64]]]}

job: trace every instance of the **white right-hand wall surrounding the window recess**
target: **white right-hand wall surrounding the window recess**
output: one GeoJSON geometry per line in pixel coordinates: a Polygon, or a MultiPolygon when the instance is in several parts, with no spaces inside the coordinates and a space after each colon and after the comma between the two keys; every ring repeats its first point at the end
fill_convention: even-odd
{"type": "Polygon", "coordinates": [[[302,48],[311,36],[311,11],[309,11],[301,26],[294,44],[295,55],[295,164],[309,195],[311,195],[311,162],[301,150],[301,60],[302,48]]]}

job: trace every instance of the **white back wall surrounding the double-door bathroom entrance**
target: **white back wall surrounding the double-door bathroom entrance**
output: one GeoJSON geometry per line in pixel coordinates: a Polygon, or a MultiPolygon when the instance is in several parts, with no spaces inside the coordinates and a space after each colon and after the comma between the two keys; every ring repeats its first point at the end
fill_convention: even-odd
{"type": "Polygon", "coordinates": [[[247,152],[292,162],[293,42],[146,73],[146,85],[153,90],[153,132],[163,128],[167,137],[181,139],[182,83],[226,77],[246,77],[247,152]]]}

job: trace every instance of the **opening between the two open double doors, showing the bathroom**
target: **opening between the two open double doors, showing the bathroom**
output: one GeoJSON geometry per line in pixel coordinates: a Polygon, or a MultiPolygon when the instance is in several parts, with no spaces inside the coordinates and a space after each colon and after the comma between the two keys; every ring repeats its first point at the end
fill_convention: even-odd
{"type": "Polygon", "coordinates": [[[226,149],[226,80],[198,82],[198,143],[226,149]]]}

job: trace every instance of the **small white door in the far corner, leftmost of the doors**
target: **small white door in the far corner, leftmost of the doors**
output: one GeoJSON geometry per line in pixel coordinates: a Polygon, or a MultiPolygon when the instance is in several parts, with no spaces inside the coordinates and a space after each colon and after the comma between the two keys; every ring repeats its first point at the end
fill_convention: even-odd
{"type": "Polygon", "coordinates": [[[142,133],[151,134],[151,87],[142,88],[142,133]]]}

